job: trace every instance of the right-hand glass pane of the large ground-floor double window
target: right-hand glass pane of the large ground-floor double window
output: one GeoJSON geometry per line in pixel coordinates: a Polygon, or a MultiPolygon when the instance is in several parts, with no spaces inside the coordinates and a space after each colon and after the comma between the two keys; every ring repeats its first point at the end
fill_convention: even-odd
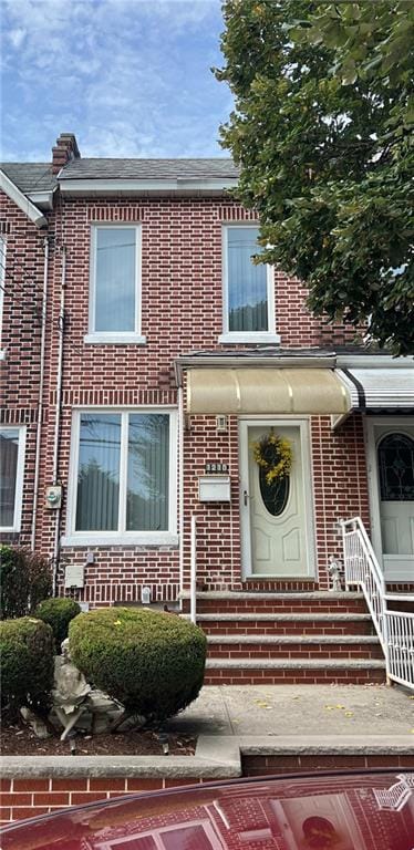
{"type": "Polygon", "coordinates": [[[169,416],[131,414],[128,432],[128,531],[168,530],[169,416]]]}

